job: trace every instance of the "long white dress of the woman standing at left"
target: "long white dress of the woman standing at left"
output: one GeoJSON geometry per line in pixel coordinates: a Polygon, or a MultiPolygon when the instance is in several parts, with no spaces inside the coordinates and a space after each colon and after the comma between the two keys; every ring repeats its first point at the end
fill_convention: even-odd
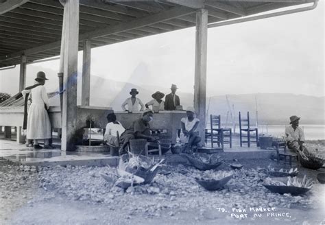
{"type": "Polygon", "coordinates": [[[27,139],[50,139],[51,122],[45,109],[45,107],[49,108],[49,99],[45,86],[36,86],[32,90],[23,90],[21,93],[24,97],[29,93],[29,97],[32,98],[27,116],[27,139]]]}

